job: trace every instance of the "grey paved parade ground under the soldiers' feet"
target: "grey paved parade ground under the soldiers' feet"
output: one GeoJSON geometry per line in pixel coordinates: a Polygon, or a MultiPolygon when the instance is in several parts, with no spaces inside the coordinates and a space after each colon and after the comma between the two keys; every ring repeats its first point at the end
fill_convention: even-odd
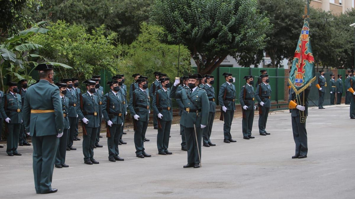
{"type": "MultiPolygon", "coordinates": [[[[255,115],[252,136],[242,139],[241,118],[232,123],[236,143],[223,143],[223,122],[215,120],[211,135],[215,147],[202,147],[202,167],[182,166],[187,154],[181,150],[178,125],[171,127],[169,151],[158,155],[157,130],[149,128],[145,142],[151,158],[136,158],[133,132],[120,145],[125,161],[108,160],[107,138],[94,149],[98,165],[83,161],[82,140],[77,150],[67,151],[69,168],[54,168],[52,188],[57,193],[36,194],[32,171],[32,146],[18,147],[22,156],[9,157],[0,148],[0,198],[354,198],[355,129],[349,105],[310,108],[307,118],[308,154],[295,154],[288,110],[271,113],[268,136],[258,133],[255,115]]],[[[256,112],[257,113],[257,112],[256,112]]]]}

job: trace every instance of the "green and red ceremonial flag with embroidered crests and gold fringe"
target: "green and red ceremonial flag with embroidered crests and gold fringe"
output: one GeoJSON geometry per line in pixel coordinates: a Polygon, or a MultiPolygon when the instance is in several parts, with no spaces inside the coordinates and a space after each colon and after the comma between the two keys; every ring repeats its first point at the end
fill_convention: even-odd
{"type": "Polygon", "coordinates": [[[316,79],[309,31],[308,21],[305,19],[289,76],[290,86],[297,95],[316,79]]]}

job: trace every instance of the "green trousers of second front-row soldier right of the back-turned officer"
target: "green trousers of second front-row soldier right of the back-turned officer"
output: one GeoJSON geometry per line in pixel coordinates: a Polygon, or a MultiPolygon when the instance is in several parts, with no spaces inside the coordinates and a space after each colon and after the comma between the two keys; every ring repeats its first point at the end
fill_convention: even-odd
{"type": "Polygon", "coordinates": [[[83,135],[83,154],[84,161],[94,159],[94,145],[97,135],[97,129],[92,127],[85,127],[87,135],[83,135]]]}

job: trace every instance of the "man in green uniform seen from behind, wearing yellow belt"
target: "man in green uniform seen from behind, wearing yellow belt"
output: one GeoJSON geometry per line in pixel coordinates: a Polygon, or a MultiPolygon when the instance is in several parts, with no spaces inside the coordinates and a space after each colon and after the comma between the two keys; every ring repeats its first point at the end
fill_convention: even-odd
{"type": "Polygon", "coordinates": [[[51,187],[59,137],[63,135],[64,118],[59,89],[53,83],[53,66],[38,64],[39,81],[27,89],[23,119],[32,137],[33,175],[36,193],[54,193],[51,187]]]}

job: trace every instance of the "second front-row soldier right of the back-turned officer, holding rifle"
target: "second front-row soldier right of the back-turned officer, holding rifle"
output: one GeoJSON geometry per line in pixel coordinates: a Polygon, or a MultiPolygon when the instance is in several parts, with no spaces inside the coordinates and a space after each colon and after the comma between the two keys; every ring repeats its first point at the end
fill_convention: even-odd
{"type": "Polygon", "coordinates": [[[97,131],[100,125],[100,105],[99,97],[94,95],[96,92],[96,82],[85,80],[87,91],[82,93],[80,101],[76,106],[76,111],[79,118],[82,120],[83,126],[83,154],[85,164],[99,164],[94,159],[94,145],[97,136],[97,131]]]}

